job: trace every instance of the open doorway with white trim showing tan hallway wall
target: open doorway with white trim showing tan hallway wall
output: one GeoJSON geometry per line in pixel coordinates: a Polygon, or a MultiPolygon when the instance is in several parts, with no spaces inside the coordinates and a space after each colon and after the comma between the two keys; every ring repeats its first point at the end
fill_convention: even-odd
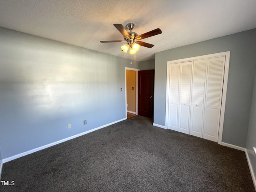
{"type": "Polygon", "coordinates": [[[138,115],[138,71],[125,68],[126,118],[138,115]]]}

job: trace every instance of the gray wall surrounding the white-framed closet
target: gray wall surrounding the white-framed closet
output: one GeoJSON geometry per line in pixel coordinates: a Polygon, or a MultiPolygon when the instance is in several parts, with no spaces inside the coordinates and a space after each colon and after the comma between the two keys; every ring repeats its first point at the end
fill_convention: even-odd
{"type": "Polygon", "coordinates": [[[256,29],[156,53],[154,123],[165,125],[167,61],[230,51],[222,142],[246,146],[256,71],[256,29]]]}

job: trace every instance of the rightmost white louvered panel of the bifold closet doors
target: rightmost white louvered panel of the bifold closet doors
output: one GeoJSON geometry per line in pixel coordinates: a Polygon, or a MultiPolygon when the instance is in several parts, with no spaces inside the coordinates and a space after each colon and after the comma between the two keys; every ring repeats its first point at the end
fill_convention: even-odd
{"type": "Polygon", "coordinates": [[[203,138],[218,142],[225,56],[208,59],[203,138]]]}

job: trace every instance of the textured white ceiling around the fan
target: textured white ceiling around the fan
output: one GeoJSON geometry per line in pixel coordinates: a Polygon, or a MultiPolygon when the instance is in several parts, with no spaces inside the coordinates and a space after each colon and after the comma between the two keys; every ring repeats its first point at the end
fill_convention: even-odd
{"type": "Polygon", "coordinates": [[[256,0],[0,0],[0,26],[60,42],[130,58],[113,24],[134,23],[143,39],[132,59],[144,61],[156,52],[256,28],[256,0]]]}

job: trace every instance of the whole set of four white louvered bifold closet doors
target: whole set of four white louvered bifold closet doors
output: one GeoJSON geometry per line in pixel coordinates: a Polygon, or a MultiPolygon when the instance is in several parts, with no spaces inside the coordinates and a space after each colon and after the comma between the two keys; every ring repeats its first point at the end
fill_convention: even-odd
{"type": "Polygon", "coordinates": [[[225,61],[168,62],[168,129],[218,142],[225,61]]]}

